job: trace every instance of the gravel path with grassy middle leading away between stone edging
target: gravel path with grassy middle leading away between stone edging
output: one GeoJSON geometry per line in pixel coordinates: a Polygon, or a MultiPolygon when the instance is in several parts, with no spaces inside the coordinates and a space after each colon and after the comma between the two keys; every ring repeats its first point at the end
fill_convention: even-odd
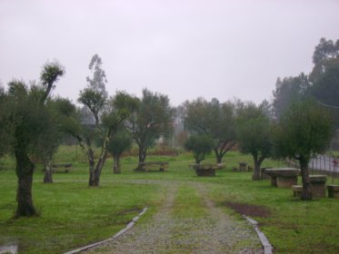
{"type": "Polygon", "coordinates": [[[161,184],[167,189],[166,197],[153,218],[86,253],[264,253],[254,230],[215,207],[203,183],[185,183],[199,193],[207,210],[208,216],[199,219],[174,216],[179,183],[161,184]]]}

